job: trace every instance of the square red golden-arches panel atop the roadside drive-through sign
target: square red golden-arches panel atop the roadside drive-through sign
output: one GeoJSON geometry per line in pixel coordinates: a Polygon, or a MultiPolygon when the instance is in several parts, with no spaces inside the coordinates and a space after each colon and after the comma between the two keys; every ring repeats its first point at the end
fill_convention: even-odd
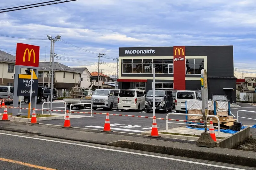
{"type": "Polygon", "coordinates": [[[38,67],[39,46],[17,43],[15,65],[38,67]]]}

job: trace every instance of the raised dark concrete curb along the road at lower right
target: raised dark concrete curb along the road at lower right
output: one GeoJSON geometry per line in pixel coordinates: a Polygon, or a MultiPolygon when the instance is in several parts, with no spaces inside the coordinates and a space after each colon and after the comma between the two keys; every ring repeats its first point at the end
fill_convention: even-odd
{"type": "Polygon", "coordinates": [[[256,158],[244,156],[234,156],[228,154],[220,154],[214,152],[195,151],[185,148],[175,148],[169,146],[160,146],[155,144],[147,144],[141,142],[133,142],[127,140],[119,140],[108,143],[109,146],[134,149],[146,152],[162,153],[167,155],[181,156],[186,158],[203,159],[222,163],[235,164],[240,166],[256,167],[256,158]]]}

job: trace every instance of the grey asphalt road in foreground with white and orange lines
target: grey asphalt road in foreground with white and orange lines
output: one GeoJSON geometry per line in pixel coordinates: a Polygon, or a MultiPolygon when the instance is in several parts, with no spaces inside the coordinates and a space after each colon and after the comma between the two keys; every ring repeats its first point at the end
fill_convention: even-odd
{"type": "Polygon", "coordinates": [[[252,170],[254,168],[0,131],[1,170],[252,170]],[[52,169],[50,169],[52,168],[52,169]]]}

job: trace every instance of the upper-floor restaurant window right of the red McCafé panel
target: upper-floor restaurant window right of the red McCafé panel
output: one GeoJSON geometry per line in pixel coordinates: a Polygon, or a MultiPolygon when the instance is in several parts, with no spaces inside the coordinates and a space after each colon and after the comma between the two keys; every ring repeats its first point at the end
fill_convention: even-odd
{"type": "Polygon", "coordinates": [[[186,59],[186,74],[201,74],[204,69],[203,58],[186,59]]]}

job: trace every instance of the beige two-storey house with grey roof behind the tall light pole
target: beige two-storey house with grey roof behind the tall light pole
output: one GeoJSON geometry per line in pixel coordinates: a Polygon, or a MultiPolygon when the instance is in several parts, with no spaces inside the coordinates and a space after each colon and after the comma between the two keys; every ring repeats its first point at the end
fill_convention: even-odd
{"type": "MultiPolygon", "coordinates": [[[[38,71],[38,85],[48,86],[49,70],[51,66],[49,62],[40,62],[38,71]]],[[[80,87],[81,71],[75,70],[59,62],[54,62],[54,87],[58,89],[71,90],[72,87],[80,87]]],[[[50,80],[51,81],[51,80],[50,80]]]]}

